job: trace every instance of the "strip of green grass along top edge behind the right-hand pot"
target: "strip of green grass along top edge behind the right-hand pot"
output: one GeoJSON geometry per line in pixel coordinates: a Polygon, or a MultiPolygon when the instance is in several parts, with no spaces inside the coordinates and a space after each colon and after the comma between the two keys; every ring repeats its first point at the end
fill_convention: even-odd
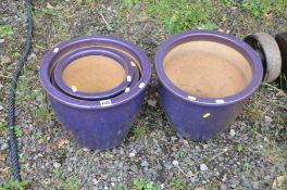
{"type": "MultiPolygon", "coordinates": [[[[242,28],[255,30],[262,24],[272,29],[274,17],[287,20],[287,1],[285,0],[117,0],[123,4],[123,12],[130,12],[135,4],[140,3],[140,9],[150,17],[162,23],[170,34],[178,34],[190,29],[229,29],[242,28]],[[226,14],[228,10],[236,10],[235,15],[226,14]],[[264,23],[262,23],[264,21],[264,23]],[[248,24],[247,24],[248,23],[248,24]]],[[[277,29],[287,29],[280,26],[277,29]]],[[[244,30],[238,30],[238,36],[244,37],[244,30]]]]}

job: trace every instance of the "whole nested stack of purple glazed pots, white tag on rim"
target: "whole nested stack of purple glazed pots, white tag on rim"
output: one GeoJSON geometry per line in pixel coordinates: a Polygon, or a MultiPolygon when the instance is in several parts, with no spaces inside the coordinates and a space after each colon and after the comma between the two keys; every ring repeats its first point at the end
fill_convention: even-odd
{"type": "Polygon", "coordinates": [[[150,80],[147,55],[108,36],[65,41],[47,53],[40,81],[59,121],[89,149],[110,149],[127,136],[150,80]]]}

